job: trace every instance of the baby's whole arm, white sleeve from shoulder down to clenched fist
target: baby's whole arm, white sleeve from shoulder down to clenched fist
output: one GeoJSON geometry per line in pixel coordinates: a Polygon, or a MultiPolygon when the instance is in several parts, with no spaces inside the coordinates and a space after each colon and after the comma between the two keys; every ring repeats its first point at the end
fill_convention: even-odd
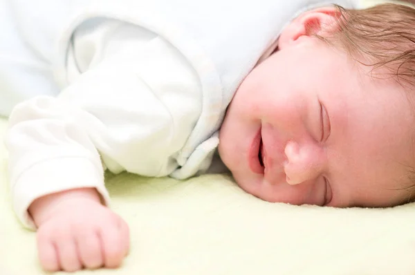
{"type": "Polygon", "coordinates": [[[100,155],[111,171],[166,176],[199,118],[199,81],[185,59],[156,35],[131,39],[131,26],[114,24],[74,41],[76,60],[68,64],[76,66],[68,68],[70,83],[59,97],[19,104],[9,119],[13,207],[26,227],[38,227],[46,269],[118,265],[128,232],[98,202],[96,191],[109,202],[100,155]],[[112,44],[109,32],[124,40],[112,44]],[[104,250],[87,249],[99,243],[91,235],[105,239],[104,250]],[[121,246],[108,256],[112,243],[121,246]]]}

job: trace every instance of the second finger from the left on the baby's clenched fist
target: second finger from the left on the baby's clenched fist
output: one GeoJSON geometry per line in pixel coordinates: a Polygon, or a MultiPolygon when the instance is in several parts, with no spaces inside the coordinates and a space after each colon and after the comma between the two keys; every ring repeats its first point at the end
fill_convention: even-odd
{"type": "Polygon", "coordinates": [[[60,239],[57,243],[61,268],[66,272],[75,272],[82,269],[82,263],[75,242],[75,238],[69,235],[68,237],[60,239]]]}

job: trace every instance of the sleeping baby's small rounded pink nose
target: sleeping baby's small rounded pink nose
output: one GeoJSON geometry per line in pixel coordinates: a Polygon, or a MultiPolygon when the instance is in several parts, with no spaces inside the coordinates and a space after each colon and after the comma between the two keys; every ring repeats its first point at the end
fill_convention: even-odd
{"type": "Polygon", "coordinates": [[[326,168],[324,149],[315,142],[288,142],[285,150],[284,171],[288,184],[299,184],[320,176],[326,168]]]}

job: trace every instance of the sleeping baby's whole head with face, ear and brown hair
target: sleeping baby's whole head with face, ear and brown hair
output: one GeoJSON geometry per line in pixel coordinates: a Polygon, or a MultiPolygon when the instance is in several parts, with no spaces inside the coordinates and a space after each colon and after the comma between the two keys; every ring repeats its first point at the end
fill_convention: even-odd
{"type": "Polygon", "coordinates": [[[399,205],[415,193],[414,99],[415,10],[311,10],[244,79],[219,153],[264,200],[399,205]]]}

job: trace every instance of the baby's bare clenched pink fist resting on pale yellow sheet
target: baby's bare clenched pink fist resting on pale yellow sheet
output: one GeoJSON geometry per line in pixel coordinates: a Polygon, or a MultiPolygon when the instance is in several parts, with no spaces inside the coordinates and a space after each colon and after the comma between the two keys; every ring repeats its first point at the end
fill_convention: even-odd
{"type": "Polygon", "coordinates": [[[37,211],[34,217],[39,260],[47,271],[114,268],[129,251],[127,223],[99,200],[77,196],[79,191],[69,196],[59,193],[58,200],[46,204],[48,211],[37,211]]]}

